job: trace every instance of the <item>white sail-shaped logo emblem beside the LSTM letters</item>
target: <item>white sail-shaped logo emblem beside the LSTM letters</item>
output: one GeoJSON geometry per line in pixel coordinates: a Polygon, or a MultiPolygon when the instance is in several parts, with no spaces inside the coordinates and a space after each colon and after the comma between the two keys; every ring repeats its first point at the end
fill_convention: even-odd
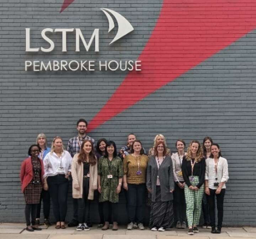
{"type": "Polygon", "coordinates": [[[101,10],[105,13],[108,19],[108,23],[109,23],[108,32],[110,32],[114,28],[114,21],[108,12],[110,12],[116,18],[116,21],[117,21],[117,25],[118,25],[117,34],[110,44],[112,44],[113,42],[116,42],[118,39],[122,38],[123,36],[127,35],[128,33],[134,30],[133,26],[127,21],[127,19],[123,17],[121,14],[119,14],[118,12],[115,12],[107,8],[101,8],[101,10]]]}

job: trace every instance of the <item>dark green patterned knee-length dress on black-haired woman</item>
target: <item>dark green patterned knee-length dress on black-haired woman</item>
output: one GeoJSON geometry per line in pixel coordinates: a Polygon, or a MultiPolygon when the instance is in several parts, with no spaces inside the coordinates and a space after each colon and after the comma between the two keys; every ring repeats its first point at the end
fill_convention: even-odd
{"type": "Polygon", "coordinates": [[[101,176],[101,194],[100,202],[110,201],[118,202],[116,188],[118,179],[123,176],[123,163],[121,158],[115,157],[112,161],[108,158],[101,157],[98,161],[98,175],[101,176]],[[113,175],[113,178],[107,178],[107,175],[113,175]]]}

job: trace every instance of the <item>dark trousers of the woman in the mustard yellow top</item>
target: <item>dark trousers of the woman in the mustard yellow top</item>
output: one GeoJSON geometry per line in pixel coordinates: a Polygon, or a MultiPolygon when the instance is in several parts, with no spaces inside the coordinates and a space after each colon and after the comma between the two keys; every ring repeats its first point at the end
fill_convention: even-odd
{"type": "Polygon", "coordinates": [[[128,219],[129,222],[135,222],[137,217],[138,223],[144,222],[146,185],[128,183],[128,219]]]}

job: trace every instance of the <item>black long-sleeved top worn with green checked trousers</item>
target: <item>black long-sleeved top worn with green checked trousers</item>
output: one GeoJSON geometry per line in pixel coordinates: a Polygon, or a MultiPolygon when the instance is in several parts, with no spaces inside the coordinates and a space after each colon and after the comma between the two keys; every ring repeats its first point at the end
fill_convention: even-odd
{"type": "MultiPolygon", "coordinates": [[[[192,159],[192,163],[194,163],[194,159],[192,159]]],[[[187,161],[186,156],[183,157],[181,168],[182,168],[182,176],[184,178],[184,181],[189,187],[191,186],[191,183],[188,177],[192,176],[192,172],[191,172],[192,170],[191,170],[191,161],[187,161]]],[[[197,188],[200,188],[204,183],[205,168],[206,168],[206,163],[204,158],[202,158],[200,162],[194,164],[193,176],[199,176],[199,183],[196,185],[197,188]]]]}

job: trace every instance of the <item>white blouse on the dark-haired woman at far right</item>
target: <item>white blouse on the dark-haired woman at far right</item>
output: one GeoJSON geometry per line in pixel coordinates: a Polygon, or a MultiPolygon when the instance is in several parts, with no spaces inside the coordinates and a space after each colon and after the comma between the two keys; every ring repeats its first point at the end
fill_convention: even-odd
{"type": "MultiPolygon", "coordinates": [[[[228,161],[223,158],[219,157],[218,164],[217,164],[217,173],[215,171],[214,159],[207,158],[206,159],[206,173],[205,173],[205,180],[208,180],[208,186],[210,189],[217,189],[218,186],[214,186],[214,183],[226,183],[229,179],[228,174],[228,161]],[[216,180],[217,178],[217,180],[216,180]]],[[[226,188],[226,184],[223,185],[223,189],[226,188]]]]}

